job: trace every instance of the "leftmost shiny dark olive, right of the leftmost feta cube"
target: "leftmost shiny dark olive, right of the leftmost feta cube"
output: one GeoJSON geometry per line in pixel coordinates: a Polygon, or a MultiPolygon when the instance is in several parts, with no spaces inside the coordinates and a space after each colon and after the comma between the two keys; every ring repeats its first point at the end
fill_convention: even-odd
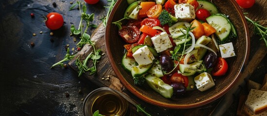
{"type": "Polygon", "coordinates": [[[173,69],[174,63],[170,56],[168,55],[161,55],[160,56],[160,65],[162,70],[164,71],[171,71],[173,69]]]}

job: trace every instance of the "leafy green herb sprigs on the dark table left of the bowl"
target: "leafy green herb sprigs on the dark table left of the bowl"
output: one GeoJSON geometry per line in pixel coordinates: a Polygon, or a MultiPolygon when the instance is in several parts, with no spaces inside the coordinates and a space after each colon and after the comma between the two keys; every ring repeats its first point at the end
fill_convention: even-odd
{"type": "MultiPolygon", "coordinates": [[[[81,14],[81,20],[80,20],[78,29],[75,29],[74,25],[71,25],[71,33],[76,35],[76,36],[79,36],[81,39],[80,42],[76,44],[77,47],[82,48],[85,44],[89,44],[93,47],[93,51],[87,56],[87,58],[85,58],[85,60],[81,61],[79,58],[76,59],[75,64],[78,66],[78,69],[79,69],[79,71],[78,71],[79,75],[78,76],[81,76],[82,73],[85,73],[86,71],[90,71],[90,74],[96,73],[96,63],[101,58],[100,53],[102,51],[101,51],[101,49],[96,49],[94,42],[90,40],[90,35],[86,33],[89,27],[97,28],[96,25],[90,24],[90,22],[92,22],[94,19],[94,14],[87,14],[86,13],[87,7],[86,7],[85,3],[81,2],[81,1],[77,1],[76,3],[74,3],[70,7],[70,10],[73,10],[77,5],[79,7],[79,11],[81,14]],[[85,30],[83,30],[83,27],[84,27],[82,24],[83,21],[86,22],[85,30]],[[89,58],[91,58],[93,60],[92,61],[93,65],[90,68],[87,66],[89,58]]],[[[76,54],[70,55],[70,50],[68,48],[65,58],[63,60],[55,63],[52,67],[54,67],[56,65],[62,66],[63,65],[62,62],[71,60],[72,58],[75,57],[75,55],[76,54]]]]}

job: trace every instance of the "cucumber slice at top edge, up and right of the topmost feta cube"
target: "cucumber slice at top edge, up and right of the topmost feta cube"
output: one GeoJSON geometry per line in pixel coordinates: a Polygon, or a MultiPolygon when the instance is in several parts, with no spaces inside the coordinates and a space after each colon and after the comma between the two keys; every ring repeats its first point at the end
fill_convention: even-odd
{"type": "Polygon", "coordinates": [[[207,0],[197,0],[197,2],[199,4],[198,9],[199,8],[207,9],[211,14],[219,13],[219,10],[214,3],[207,0]]]}

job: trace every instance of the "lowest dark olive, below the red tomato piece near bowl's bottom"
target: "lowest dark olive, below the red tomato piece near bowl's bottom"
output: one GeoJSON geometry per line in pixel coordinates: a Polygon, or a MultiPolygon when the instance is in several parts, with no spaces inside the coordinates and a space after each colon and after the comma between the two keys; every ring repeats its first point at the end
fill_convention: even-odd
{"type": "Polygon", "coordinates": [[[173,96],[175,97],[183,95],[186,91],[186,87],[182,83],[172,83],[170,86],[173,87],[173,96]]]}

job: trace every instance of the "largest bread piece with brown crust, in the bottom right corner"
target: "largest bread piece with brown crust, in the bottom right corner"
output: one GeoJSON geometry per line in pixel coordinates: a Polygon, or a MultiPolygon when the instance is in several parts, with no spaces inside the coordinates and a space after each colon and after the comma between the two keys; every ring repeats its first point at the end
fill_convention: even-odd
{"type": "Polygon", "coordinates": [[[251,89],[248,99],[245,102],[247,106],[255,113],[259,114],[267,110],[267,91],[251,89]]]}

